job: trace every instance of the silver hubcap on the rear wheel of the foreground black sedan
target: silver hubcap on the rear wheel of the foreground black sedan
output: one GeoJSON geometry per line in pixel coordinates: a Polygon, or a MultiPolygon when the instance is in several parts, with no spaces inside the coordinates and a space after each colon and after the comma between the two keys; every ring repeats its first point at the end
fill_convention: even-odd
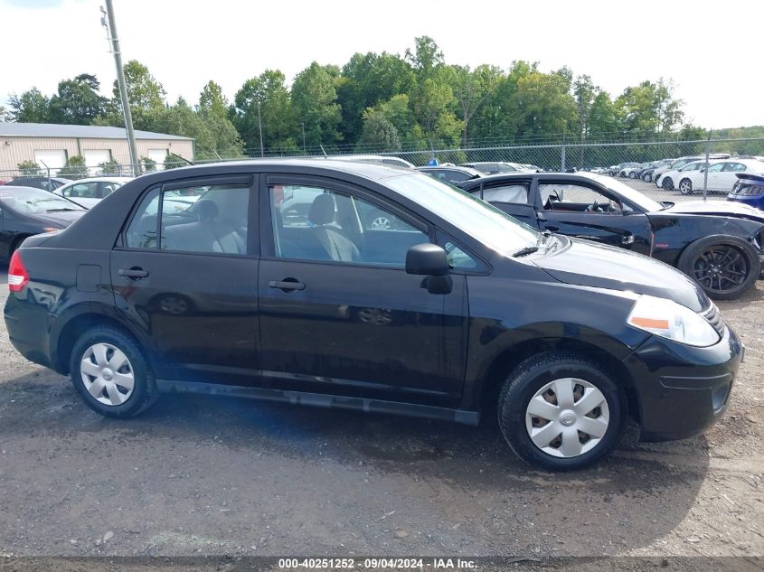
{"type": "Polygon", "coordinates": [[[125,403],[136,385],[127,356],[108,343],[88,348],[80,362],[80,376],[85,389],[104,405],[125,403]]]}

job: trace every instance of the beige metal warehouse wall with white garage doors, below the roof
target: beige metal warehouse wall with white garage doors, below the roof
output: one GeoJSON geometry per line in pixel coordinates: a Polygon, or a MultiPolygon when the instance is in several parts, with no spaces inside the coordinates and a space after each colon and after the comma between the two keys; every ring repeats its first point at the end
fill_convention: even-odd
{"type": "MultiPolygon", "coordinates": [[[[185,159],[193,159],[191,140],[137,139],[136,145],[140,157],[148,156],[149,149],[167,149],[185,159]]],[[[34,161],[34,151],[43,149],[63,149],[67,157],[83,155],[86,149],[108,149],[119,164],[130,163],[125,139],[0,136],[0,171],[13,170],[23,161],[34,161]]]]}

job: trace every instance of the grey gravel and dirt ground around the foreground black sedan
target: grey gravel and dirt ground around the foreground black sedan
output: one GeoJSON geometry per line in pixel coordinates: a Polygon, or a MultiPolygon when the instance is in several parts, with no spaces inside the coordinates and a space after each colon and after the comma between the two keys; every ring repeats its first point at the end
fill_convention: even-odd
{"type": "Polygon", "coordinates": [[[201,396],[106,419],[3,324],[0,555],[762,555],[764,283],[720,307],[747,346],[721,423],[568,475],[493,423],[201,396]]]}

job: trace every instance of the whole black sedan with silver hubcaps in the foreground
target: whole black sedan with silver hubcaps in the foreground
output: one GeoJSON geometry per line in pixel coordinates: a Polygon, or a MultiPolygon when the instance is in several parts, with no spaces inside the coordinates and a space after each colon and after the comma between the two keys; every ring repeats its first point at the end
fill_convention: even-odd
{"type": "Polygon", "coordinates": [[[26,239],[8,272],[14,347],[103,415],[160,391],[467,424],[497,409],[514,451],[551,470],[608,455],[628,416],[647,440],[703,431],[742,352],[674,268],[377,164],[149,173],[26,239]],[[297,194],[307,220],[288,216],[297,194]]]}

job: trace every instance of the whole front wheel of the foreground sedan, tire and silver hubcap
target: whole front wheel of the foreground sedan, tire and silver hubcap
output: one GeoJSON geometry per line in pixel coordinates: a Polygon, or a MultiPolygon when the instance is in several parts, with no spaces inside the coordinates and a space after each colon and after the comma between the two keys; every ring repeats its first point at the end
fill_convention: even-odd
{"type": "Polygon", "coordinates": [[[506,442],[523,461],[570,471],[597,463],[618,445],[626,400],[597,363],[544,352],[507,378],[498,417],[506,442]]]}

